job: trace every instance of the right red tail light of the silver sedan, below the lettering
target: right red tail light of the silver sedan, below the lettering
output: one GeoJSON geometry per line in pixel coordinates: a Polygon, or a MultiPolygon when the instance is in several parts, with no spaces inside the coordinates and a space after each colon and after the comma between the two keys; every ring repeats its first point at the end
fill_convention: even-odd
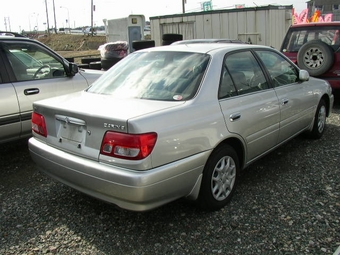
{"type": "Polygon", "coordinates": [[[108,131],[104,136],[100,152],[116,158],[144,159],[152,152],[156,140],[156,133],[124,134],[108,131]]]}

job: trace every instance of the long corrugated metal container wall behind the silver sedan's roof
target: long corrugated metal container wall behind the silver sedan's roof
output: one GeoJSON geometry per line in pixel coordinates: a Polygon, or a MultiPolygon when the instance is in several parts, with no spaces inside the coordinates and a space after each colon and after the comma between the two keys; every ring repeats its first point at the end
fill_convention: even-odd
{"type": "Polygon", "coordinates": [[[151,17],[151,39],[161,45],[162,35],[183,39],[228,38],[280,48],[291,25],[292,6],[267,6],[151,17]]]}

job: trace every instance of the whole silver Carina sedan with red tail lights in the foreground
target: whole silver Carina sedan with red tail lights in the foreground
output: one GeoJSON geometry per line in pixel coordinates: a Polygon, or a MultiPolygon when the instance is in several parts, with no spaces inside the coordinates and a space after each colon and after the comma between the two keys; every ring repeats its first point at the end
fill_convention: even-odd
{"type": "Polygon", "coordinates": [[[252,162],[302,132],[320,138],[333,101],[271,47],[160,46],[35,102],[29,150],[46,174],[127,210],[183,197],[217,210],[252,162]]]}

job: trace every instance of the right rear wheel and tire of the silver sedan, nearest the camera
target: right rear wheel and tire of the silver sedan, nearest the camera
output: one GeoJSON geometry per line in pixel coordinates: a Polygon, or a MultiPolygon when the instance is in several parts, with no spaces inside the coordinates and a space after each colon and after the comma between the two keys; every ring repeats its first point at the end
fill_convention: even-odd
{"type": "Polygon", "coordinates": [[[198,197],[199,205],[215,211],[227,205],[235,192],[239,176],[239,159],[229,145],[215,149],[204,170],[198,197]]]}

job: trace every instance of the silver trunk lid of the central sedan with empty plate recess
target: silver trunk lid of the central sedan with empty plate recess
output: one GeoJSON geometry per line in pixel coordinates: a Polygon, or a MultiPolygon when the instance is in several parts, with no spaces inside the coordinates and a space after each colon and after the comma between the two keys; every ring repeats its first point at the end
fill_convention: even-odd
{"type": "Polygon", "coordinates": [[[41,139],[53,147],[97,160],[108,130],[129,133],[129,120],[183,103],[117,99],[108,95],[77,92],[35,102],[34,110],[43,115],[46,121],[48,135],[41,139]]]}

